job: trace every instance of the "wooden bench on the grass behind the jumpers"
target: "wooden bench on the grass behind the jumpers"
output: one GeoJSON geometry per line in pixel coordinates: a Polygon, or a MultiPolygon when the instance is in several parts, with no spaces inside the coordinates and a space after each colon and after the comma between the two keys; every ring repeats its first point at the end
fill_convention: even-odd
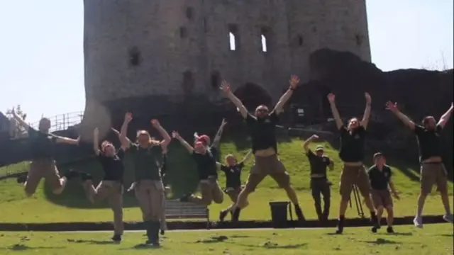
{"type": "Polygon", "coordinates": [[[166,219],[206,219],[206,229],[210,228],[209,209],[205,205],[165,200],[166,219]]]}

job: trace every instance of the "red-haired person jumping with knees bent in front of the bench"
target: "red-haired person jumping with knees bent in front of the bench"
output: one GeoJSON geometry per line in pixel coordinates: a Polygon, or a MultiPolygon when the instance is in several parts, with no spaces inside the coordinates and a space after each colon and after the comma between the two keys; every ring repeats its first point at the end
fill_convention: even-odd
{"type": "MultiPolygon", "coordinates": [[[[218,149],[216,147],[209,147],[209,140],[206,135],[202,135],[194,142],[194,147],[189,145],[178,132],[172,132],[172,137],[179,140],[181,144],[191,154],[192,159],[196,163],[197,171],[199,173],[199,188],[201,197],[194,196],[193,194],[184,195],[180,198],[182,202],[192,202],[199,205],[211,205],[211,202],[222,203],[224,200],[223,191],[218,183],[218,172],[216,166],[216,155],[218,149]]],[[[209,138],[208,138],[209,139],[209,138]]]]}

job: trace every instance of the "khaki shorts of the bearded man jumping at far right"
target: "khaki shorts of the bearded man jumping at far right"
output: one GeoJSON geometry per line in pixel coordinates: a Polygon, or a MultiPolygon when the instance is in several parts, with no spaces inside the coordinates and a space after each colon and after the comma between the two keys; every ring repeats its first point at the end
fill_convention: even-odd
{"type": "Polygon", "coordinates": [[[421,164],[421,193],[428,195],[432,191],[433,184],[437,185],[440,192],[448,191],[448,171],[443,163],[421,164]]]}

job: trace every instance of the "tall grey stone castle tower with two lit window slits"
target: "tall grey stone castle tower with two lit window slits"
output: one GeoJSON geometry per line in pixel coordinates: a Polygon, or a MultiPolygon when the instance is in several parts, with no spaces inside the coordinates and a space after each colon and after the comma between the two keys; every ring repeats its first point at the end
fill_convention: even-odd
{"type": "Polygon", "coordinates": [[[276,101],[290,74],[309,79],[309,55],[321,48],[370,62],[365,0],[84,1],[87,107],[138,97],[215,102],[221,79],[276,101]]]}

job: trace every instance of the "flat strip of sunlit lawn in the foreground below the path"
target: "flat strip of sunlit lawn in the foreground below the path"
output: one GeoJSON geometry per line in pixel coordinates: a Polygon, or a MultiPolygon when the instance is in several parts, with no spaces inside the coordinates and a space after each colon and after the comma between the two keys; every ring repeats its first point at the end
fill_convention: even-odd
{"type": "Polygon", "coordinates": [[[453,254],[453,225],[424,229],[396,227],[396,234],[372,234],[365,227],[345,229],[272,229],[167,232],[159,249],[143,247],[141,232],[124,235],[121,244],[109,242],[106,232],[0,232],[3,254],[453,254]],[[153,251],[150,251],[153,249],[153,251]]]}

